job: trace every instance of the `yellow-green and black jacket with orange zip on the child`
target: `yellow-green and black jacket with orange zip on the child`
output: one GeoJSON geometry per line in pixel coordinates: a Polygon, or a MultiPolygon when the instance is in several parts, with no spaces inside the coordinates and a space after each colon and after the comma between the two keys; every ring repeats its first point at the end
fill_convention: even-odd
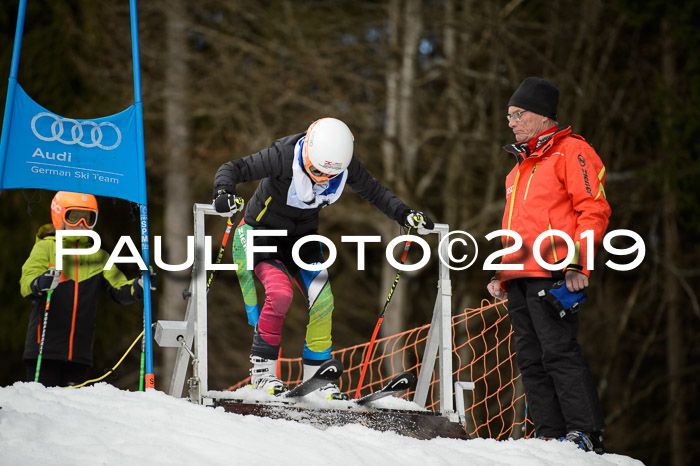
{"type": "MultiPolygon", "coordinates": [[[[67,236],[63,247],[89,248],[92,240],[86,236],[67,236]]],[[[54,265],[56,236],[50,225],[39,230],[29,258],[22,266],[20,291],[32,300],[24,359],[36,359],[46,307],[46,292],[32,294],[31,282],[54,265]],[[48,232],[48,233],[47,233],[48,232]]],[[[109,255],[100,249],[90,255],[64,256],[58,287],[51,295],[42,358],[73,361],[92,365],[92,344],[95,334],[97,305],[102,293],[119,304],[131,304],[142,299],[143,292],[112,267],[103,270],[109,255]]]]}

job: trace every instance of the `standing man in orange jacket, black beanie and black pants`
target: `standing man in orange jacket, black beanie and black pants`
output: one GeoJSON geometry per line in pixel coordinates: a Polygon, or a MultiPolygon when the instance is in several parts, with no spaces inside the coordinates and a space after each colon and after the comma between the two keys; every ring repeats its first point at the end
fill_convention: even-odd
{"type": "MultiPolygon", "coordinates": [[[[572,301],[583,295],[611,211],[605,167],[571,127],[557,126],[558,103],[559,90],[535,77],[526,78],[508,102],[508,126],[517,142],[504,148],[516,164],[506,177],[503,229],[517,233],[522,246],[503,256],[488,291],[508,298],[536,435],[603,453],[605,423],[577,342],[578,314],[572,310],[578,308],[555,311],[549,298],[550,290],[572,301]]],[[[503,246],[516,240],[503,236],[503,246]]]]}

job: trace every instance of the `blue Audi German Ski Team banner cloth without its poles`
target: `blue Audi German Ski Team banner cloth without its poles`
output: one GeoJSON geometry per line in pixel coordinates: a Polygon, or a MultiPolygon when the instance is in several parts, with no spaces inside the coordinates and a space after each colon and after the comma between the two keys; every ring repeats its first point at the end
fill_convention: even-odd
{"type": "Polygon", "coordinates": [[[17,84],[0,189],[74,191],[145,204],[136,124],[134,105],[93,120],[65,118],[17,84]]]}

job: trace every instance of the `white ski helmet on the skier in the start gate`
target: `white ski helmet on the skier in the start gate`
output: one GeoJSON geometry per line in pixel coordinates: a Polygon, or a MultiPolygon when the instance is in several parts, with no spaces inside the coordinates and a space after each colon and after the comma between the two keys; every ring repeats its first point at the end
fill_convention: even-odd
{"type": "Polygon", "coordinates": [[[354,137],[350,128],[335,118],[321,118],[306,130],[302,151],[304,168],[312,180],[323,183],[350,165],[354,137]]]}

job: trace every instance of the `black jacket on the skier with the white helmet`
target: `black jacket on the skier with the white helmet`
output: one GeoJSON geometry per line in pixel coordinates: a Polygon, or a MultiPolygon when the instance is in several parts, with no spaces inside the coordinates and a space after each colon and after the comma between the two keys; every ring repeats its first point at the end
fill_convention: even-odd
{"type": "MultiPolygon", "coordinates": [[[[300,209],[287,205],[287,192],[292,183],[294,146],[306,133],[276,140],[270,147],[255,154],[223,164],[214,177],[214,193],[225,189],[236,192],[236,185],[261,180],[245,211],[245,222],[254,228],[287,230],[288,236],[303,236],[318,230],[321,206],[300,209]]],[[[347,184],[362,199],[403,225],[411,209],[394,193],[369,174],[357,157],[348,165],[347,184]]]]}

